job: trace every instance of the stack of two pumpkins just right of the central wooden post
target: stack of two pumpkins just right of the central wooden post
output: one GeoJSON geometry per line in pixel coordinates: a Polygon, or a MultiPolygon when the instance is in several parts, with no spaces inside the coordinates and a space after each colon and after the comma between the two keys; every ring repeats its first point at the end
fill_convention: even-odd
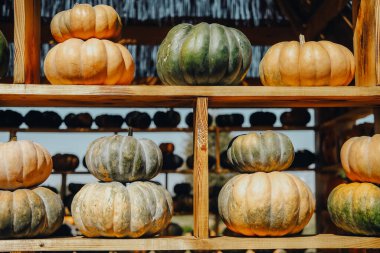
{"type": "Polygon", "coordinates": [[[240,135],[231,141],[227,156],[242,173],[229,180],[218,197],[219,214],[231,231],[283,236],[307,225],[315,210],[309,187],[298,177],[279,172],[294,159],[286,135],[273,131],[240,135]]]}

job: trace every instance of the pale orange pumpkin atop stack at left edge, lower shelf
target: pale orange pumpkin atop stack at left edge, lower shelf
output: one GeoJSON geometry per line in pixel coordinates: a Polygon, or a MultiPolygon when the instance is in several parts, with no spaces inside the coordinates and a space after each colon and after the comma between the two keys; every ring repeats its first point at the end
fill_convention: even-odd
{"type": "Polygon", "coordinates": [[[52,169],[51,155],[40,144],[27,140],[0,143],[0,189],[41,184],[52,169]]]}

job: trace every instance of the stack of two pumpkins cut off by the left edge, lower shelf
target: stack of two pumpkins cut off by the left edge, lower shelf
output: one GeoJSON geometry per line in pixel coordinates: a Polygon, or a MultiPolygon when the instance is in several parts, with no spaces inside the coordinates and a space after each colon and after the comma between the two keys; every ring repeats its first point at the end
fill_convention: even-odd
{"type": "Polygon", "coordinates": [[[49,152],[32,141],[0,143],[0,238],[31,238],[54,233],[63,222],[60,197],[36,187],[50,175],[49,152]]]}

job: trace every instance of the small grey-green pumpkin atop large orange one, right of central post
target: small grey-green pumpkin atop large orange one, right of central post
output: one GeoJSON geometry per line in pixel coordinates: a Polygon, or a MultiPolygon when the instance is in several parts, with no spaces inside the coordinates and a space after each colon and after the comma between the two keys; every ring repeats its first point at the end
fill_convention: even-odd
{"type": "Polygon", "coordinates": [[[241,173],[280,171],[292,164],[294,148],[285,134],[265,131],[235,137],[227,156],[231,166],[241,173]]]}

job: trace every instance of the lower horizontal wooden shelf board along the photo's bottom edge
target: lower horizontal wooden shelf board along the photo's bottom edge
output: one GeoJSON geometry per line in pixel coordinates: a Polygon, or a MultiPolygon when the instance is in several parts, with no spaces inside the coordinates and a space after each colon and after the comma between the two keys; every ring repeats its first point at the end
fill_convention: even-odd
{"type": "Polygon", "coordinates": [[[0,240],[1,251],[119,251],[119,250],[227,250],[227,249],[380,248],[379,237],[313,236],[243,238],[192,236],[144,239],[47,238],[0,240]]]}

